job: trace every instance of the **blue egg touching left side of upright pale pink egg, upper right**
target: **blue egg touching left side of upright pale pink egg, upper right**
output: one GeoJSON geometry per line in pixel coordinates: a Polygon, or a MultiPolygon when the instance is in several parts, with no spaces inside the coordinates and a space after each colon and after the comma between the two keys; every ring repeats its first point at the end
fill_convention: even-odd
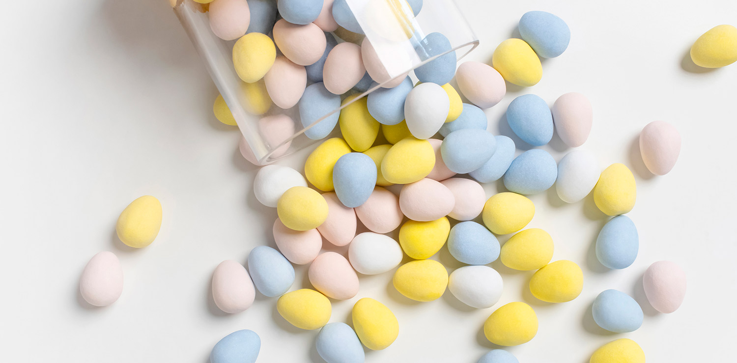
{"type": "Polygon", "coordinates": [[[532,146],[541,147],[553,138],[553,113],[539,96],[525,94],[512,100],[506,116],[514,134],[532,146]]]}

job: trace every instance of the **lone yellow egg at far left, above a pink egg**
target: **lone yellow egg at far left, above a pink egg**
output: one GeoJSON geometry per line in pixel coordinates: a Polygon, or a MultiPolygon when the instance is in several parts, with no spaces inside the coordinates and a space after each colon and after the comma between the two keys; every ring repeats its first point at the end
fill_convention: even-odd
{"type": "Polygon", "coordinates": [[[130,247],[146,247],[158,235],[161,228],[161,202],[144,195],[123,209],[115,225],[121,242],[130,247]]]}

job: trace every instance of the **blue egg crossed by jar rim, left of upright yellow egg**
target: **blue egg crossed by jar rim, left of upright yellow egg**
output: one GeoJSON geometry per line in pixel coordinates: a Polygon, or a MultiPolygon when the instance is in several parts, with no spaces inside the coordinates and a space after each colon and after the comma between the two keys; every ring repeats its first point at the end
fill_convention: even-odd
{"type": "MultiPolygon", "coordinates": [[[[327,113],[338,110],[340,108],[340,95],[328,91],[323,82],[312,83],[304,89],[298,107],[302,127],[307,127],[327,113]]],[[[332,129],[335,129],[335,125],[338,124],[338,116],[340,116],[340,112],[332,113],[315,126],[305,130],[304,135],[312,138],[312,140],[320,140],[326,137],[332,133],[332,129]]]]}

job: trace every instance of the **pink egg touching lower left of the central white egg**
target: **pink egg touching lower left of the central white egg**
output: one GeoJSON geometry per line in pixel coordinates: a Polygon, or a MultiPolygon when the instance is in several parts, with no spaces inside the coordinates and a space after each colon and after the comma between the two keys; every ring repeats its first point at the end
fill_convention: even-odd
{"type": "Polygon", "coordinates": [[[315,289],[335,300],[346,300],[358,292],[358,276],[343,255],[326,252],[318,255],[307,272],[315,289]]]}

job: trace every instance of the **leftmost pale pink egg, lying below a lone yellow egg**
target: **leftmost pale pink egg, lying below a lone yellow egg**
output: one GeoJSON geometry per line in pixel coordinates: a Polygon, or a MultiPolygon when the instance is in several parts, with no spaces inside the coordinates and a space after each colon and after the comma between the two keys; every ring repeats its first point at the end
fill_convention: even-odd
{"type": "Polygon", "coordinates": [[[108,306],[123,292],[123,269],[112,252],[92,256],[80,276],[80,295],[94,306],[108,306]]]}

